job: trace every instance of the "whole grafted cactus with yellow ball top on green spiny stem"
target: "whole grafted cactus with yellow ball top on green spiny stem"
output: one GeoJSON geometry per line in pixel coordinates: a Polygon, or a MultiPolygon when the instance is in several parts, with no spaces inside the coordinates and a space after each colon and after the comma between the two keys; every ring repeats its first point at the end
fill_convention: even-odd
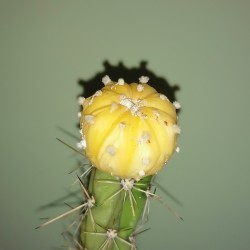
{"type": "Polygon", "coordinates": [[[151,183],[178,151],[180,105],[150,87],[148,80],[142,76],[139,83],[127,84],[105,76],[102,89],[79,98],[78,148],[91,167],[87,178],[78,176],[84,203],[68,212],[81,210],[77,249],[136,249],[135,236],[148,217],[148,199],[159,199],[151,183]]]}

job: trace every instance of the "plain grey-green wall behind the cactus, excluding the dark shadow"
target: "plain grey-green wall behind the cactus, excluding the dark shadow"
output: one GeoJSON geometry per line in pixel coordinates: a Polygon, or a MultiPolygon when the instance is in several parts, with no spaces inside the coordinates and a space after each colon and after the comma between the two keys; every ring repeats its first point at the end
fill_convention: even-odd
{"type": "Polygon", "coordinates": [[[250,249],[249,25],[247,0],[1,0],[0,249],[63,244],[61,222],[34,228],[68,209],[39,210],[75,180],[75,155],[55,138],[75,145],[58,126],[78,136],[77,82],[104,60],[146,60],[180,86],[181,152],[158,175],[169,194],[157,192],[184,221],[152,200],[139,248],[250,249]]]}

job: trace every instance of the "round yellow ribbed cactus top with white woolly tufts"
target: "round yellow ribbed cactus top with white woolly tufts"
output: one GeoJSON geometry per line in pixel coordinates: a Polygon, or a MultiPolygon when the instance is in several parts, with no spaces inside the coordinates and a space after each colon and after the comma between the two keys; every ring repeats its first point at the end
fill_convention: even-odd
{"type": "Polygon", "coordinates": [[[120,178],[139,180],[157,173],[176,149],[176,109],[165,95],[140,83],[112,82],[94,95],[80,98],[80,145],[98,169],[120,178]]]}

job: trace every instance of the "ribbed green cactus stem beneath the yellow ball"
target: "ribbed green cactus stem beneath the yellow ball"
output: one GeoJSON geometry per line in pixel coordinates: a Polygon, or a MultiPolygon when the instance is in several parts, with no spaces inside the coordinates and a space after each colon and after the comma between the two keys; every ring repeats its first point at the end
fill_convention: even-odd
{"type": "Polygon", "coordinates": [[[86,249],[133,249],[129,237],[141,219],[150,182],[151,177],[145,177],[134,182],[132,189],[124,190],[121,179],[97,169],[92,171],[88,191],[95,205],[88,209],[81,229],[86,249]],[[108,230],[117,232],[117,236],[109,238],[108,230]]]}

